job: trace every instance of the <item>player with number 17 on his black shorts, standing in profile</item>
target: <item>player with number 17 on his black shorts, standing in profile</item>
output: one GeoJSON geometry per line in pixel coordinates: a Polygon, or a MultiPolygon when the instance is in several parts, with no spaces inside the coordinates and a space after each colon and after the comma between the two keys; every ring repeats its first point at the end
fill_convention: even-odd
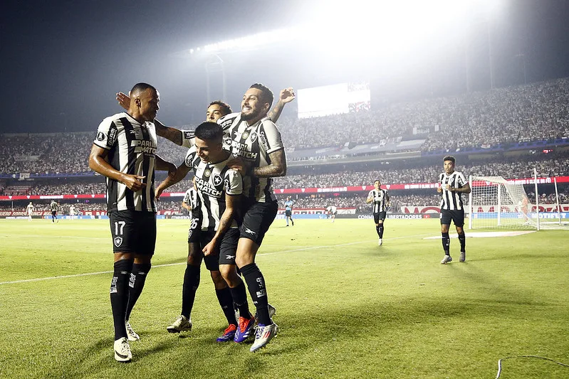
{"type": "Polygon", "coordinates": [[[176,166],[156,154],[153,123],[160,94],[147,83],[130,91],[127,112],[103,119],[91,147],[89,167],[106,177],[107,211],[113,241],[114,272],[110,304],[115,326],[115,359],[132,360],[129,341],[140,339],[130,326],[156,245],[155,169],[174,174],[176,166]]]}

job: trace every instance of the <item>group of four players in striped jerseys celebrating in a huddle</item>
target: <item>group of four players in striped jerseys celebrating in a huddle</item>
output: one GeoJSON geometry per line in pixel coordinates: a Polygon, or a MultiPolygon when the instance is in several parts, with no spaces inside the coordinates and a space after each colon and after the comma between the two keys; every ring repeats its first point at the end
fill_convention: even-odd
{"type": "Polygon", "coordinates": [[[271,110],[273,92],[256,83],[246,90],[241,112],[232,113],[224,102],[212,102],[207,122],[190,132],[166,127],[156,119],[160,93],[152,85],[138,83],[129,95],[117,94],[126,112],[101,122],[89,156],[90,168],[107,181],[117,361],[131,361],[130,342],[140,339],[129,319],[155,250],[156,200],[189,171],[194,174],[194,188],[187,196],[192,223],[182,312],[167,330],[192,329],[190,313],[203,260],[229,324],[217,341],[242,343],[254,334],[250,351],[257,351],[276,336],[278,326],[271,319],[275,309],[268,304],[265,278],[255,257],[278,211],[272,178],[286,175],[284,146],[274,122],[294,97],[292,88],[282,90],[271,110]],[[189,148],[183,164],[177,167],[156,154],[157,136],[189,148]],[[157,188],[155,170],[168,171],[157,188]],[[245,284],[255,316],[249,311],[245,284]]]}

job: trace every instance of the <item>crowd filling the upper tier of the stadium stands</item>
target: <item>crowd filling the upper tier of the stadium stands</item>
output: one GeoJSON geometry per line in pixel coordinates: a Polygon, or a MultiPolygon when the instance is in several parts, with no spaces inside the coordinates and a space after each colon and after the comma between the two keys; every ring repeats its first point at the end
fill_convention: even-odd
{"type": "MultiPolygon", "coordinates": [[[[569,78],[310,119],[281,117],[287,147],[379,143],[429,131],[422,151],[569,138],[569,78]],[[438,129],[438,131],[436,131],[438,129]]],[[[192,129],[192,127],[185,127],[192,129]]],[[[93,134],[0,135],[0,174],[83,173],[93,134]]],[[[419,138],[419,137],[417,137],[419,138]]],[[[185,149],[160,140],[158,154],[179,163],[185,149]]],[[[340,156],[341,157],[341,156],[340,156]]]]}

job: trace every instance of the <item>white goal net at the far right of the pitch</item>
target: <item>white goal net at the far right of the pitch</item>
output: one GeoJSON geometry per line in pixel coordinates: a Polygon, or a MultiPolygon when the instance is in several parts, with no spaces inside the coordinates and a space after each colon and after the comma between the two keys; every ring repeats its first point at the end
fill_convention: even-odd
{"type": "Polygon", "coordinates": [[[471,176],[469,179],[469,228],[538,229],[522,184],[501,176],[471,176]]]}

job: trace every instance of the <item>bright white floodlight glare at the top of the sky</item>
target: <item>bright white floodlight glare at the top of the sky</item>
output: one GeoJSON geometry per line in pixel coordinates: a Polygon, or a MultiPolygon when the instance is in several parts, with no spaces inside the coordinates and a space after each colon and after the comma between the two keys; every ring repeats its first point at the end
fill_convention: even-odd
{"type": "Polygon", "coordinates": [[[202,50],[250,50],[298,39],[338,55],[393,56],[459,35],[469,17],[492,16],[506,1],[322,0],[307,12],[303,25],[211,43],[202,50]]]}

